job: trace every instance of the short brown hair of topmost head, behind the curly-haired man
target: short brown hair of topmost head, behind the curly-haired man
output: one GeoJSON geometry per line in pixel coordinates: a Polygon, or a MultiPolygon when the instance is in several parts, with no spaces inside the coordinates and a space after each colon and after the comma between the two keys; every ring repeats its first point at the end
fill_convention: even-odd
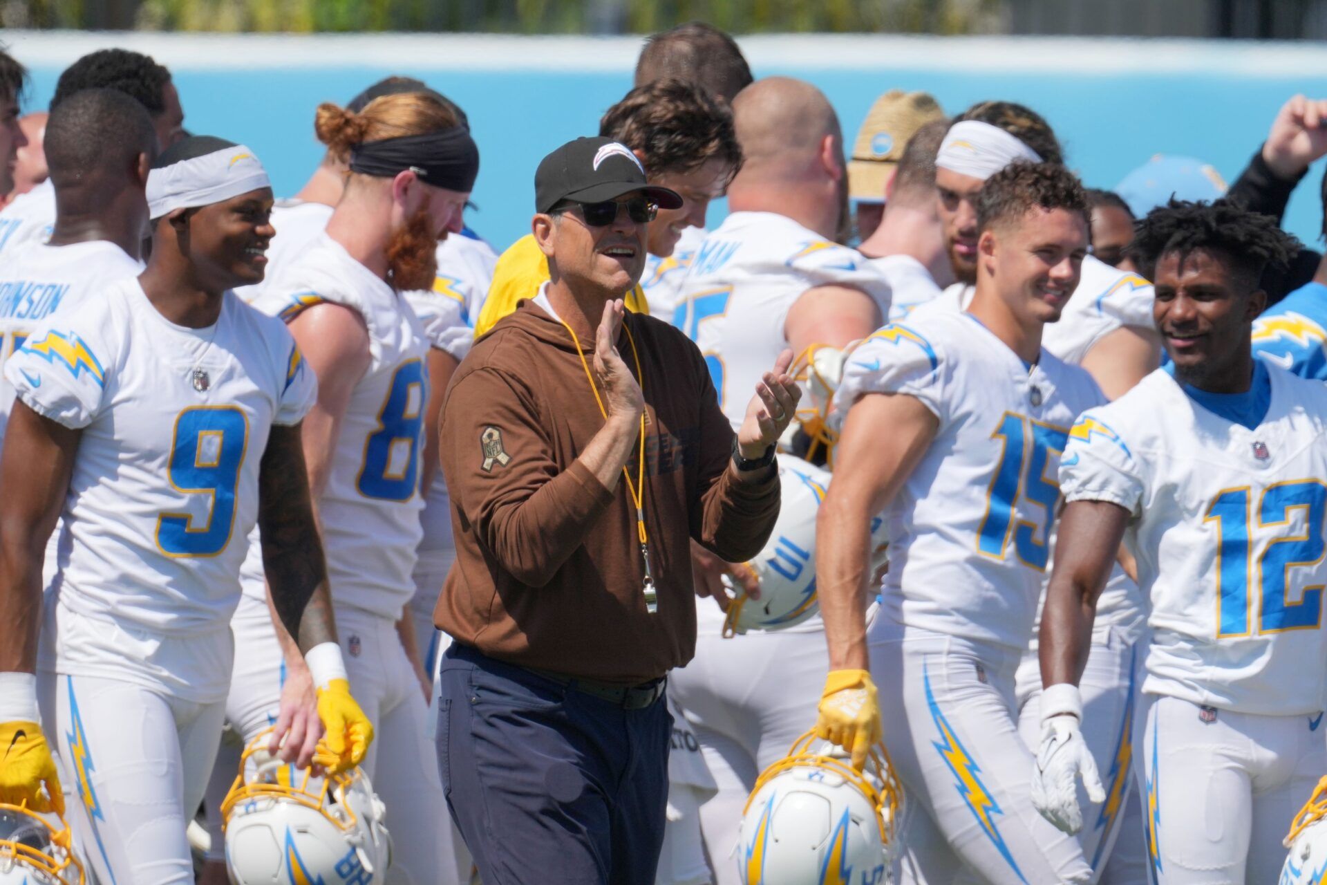
{"type": "Polygon", "coordinates": [[[664,77],[705,86],[727,102],[754,80],[736,41],[703,21],[687,21],[646,38],[636,60],[636,85],[664,77]]]}

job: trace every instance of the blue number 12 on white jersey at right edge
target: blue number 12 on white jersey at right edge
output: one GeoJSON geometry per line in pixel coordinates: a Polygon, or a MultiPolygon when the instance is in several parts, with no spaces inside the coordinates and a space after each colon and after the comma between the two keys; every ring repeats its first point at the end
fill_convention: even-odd
{"type": "Polygon", "coordinates": [[[1323,510],[1327,486],[1299,479],[1269,486],[1258,502],[1258,527],[1290,527],[1291,511],[1300,510],[1304,531],[1267,543],[1253,573],[1253,539],[1249,536],[1250,490],[1227,488],[1208,504],[1205,523],[1217,524],[1217,638],[1251,632],[1250,588],[1258,596],[1258,632],[1316,629],[1322,622],[1323,588],[1306,586],[1303,598],[1291,602],[1290,569],[1316,565],[1323,557],[1323,510]]]}

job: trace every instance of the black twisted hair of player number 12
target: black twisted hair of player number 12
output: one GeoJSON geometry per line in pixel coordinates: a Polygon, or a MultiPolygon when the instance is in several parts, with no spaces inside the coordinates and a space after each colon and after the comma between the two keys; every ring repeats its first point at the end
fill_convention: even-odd
{"type": "Polygon", "coordinates": [[[1196,249],[1216,252],[1257,288],[1263,271],[1285,271],[1299,248],[1299,240],[1277,227],[1270,215],[1250,212],[1227,199],[1208,203],[1172,198],[1133,223],[1128,255],[1152,279],[1162,255],[1178,252],[1182,259],[1196,249]]]}

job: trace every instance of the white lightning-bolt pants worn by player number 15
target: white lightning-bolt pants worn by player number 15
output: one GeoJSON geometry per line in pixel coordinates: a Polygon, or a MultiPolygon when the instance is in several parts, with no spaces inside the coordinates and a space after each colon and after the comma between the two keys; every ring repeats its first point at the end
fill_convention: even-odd
{"type": "Polygon", "coordinates": [[[1019,650],[880,621],[871,641],[885,746],[905,791],[894,881],[1089,882],[1078,841],[1030,799],[1032,751],[1014,701],[1019,650]]]}

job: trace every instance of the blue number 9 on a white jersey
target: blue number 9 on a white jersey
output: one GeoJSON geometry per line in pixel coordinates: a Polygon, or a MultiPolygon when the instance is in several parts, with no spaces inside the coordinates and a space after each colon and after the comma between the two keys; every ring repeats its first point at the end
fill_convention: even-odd
{"type": "Polygon", "coordinates": [[[175,418],[170,447],[171,488],[211,495],[207,519],[188,513],[157,517],[157,545],[166,556],[216,556],[231,540],[235,490],[248,448],[248,418],[235,406],[195,406],[175,418]]]}

